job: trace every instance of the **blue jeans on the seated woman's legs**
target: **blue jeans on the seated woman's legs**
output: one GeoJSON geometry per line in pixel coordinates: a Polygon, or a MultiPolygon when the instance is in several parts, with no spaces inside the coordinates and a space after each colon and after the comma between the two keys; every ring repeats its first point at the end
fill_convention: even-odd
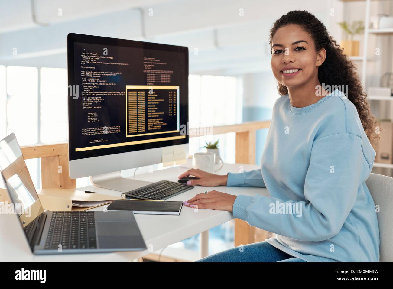
{"type": "Polygon", "coordinates": [[[196,262],[306,262],[294,258],[266,241],[235,247],[196,262]]]}

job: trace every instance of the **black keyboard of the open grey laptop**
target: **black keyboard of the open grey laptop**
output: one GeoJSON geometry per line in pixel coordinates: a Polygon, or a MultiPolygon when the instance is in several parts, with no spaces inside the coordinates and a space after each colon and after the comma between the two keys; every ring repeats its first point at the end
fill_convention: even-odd
{"type": "Polygon", "coordinates": [[[59,248],[97,249],[93,211],[52,213],[45,249],[59,248]]]}

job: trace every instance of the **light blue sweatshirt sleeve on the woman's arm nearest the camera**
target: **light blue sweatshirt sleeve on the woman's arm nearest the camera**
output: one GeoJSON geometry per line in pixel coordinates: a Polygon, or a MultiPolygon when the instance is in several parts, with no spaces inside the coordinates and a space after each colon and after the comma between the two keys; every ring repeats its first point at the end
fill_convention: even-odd
{"type": "Polygon", "coordinates": [[[358,188],[371,169],[359,136],[339,133],[319,138],[312,145],[304,201],[239,195],[233,204],[233,216],[251,226],[301,241],[329,239],[340,232],[354,206],[358,188]],[[280,214],[275,209],[277,204],[294,210],[280,214]]]}

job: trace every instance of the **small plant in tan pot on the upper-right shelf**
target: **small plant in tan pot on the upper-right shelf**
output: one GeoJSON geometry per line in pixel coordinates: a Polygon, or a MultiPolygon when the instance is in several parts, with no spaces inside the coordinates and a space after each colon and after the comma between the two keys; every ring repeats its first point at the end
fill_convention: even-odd
{"type": "Polygon", "coordinates": [[[348,56],[359,56],[359,41],[353,40],[354,35],[364,32],[364,24],[362,20],[354,21],[352,24],[346,21],[338,23],[344,30],[345,39],[341,40],[340,46],[343,52],[348,56]]]}

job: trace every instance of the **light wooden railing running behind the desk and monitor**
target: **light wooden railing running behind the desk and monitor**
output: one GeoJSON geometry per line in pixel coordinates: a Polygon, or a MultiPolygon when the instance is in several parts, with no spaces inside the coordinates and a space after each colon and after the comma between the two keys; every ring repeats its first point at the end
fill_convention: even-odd
{"type": "MultiPolygon", "coordinates": [[[[199,137],[208,134],[236,133],[236,163],[255,164],[256,131],[268,129],[270,120],[248,121],[233,125],[220,125],[211,129],[198,130],[198,135],[190,134],[189,137],[199,137]],[[201,133],[202,132],[202,133],[201,133]]],[[[43,189],[76,188],[76,181],[68,175],[68,144],[47,144],[22,147],[25,159],[41,159],[41,182],[43,189]]],[[[235,219],[235,246],[246,245],[262,241],[268,237],[268,232],[249,226],[247,222],[235,219]]]]}

